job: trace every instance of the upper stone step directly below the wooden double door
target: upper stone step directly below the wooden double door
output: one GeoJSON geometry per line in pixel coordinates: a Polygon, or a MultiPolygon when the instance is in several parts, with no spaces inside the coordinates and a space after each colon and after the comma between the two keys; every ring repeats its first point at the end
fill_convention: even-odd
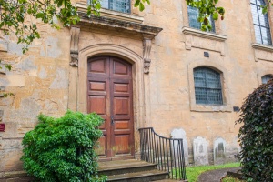
{"type": "Polygon", "coordinates": [[[156,164],[151,164],[136,159],[115,160],[108,162],[99,162],[98,174],[106,176],[121,175],[126,173],[154,170],[156,169],[156,167],[156,164]]]}

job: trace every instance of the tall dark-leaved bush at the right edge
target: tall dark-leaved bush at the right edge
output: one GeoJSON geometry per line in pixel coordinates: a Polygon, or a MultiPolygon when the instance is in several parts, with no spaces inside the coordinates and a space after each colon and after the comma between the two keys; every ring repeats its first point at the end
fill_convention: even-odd
{"type": "Polygon", "coordinates": [[[241,111],[242,172],[248,181],[273,181],[273,80],[254,90],[241,111]]]}

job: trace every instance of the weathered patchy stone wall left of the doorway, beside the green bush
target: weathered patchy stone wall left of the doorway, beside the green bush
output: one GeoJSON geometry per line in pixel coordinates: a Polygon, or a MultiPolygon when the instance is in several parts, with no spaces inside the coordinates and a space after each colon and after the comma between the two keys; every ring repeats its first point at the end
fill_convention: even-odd
{"type": "Polygon", "coordinates": [[[0,132],[0,171],[22,169],[21,141],[34,128],[39,113],[61,116],[67,109],[69,31],[37,25],[41,39],[25,55],[13,36],[1,35],[5,40],[5,49],[0,50],[2,64],[13,67],[0,73],[0,85],[15,96],[0,97],[5,123],[5,132],[0,132]]]}

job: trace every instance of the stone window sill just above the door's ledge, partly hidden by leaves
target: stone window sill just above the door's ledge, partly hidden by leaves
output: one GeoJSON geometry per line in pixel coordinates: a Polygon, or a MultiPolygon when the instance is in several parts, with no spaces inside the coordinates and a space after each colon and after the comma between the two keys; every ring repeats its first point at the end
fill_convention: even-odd
{"type": "MultiPolygon", "coordinates": [[[[77,10],[83,13],[87,12],[87,6],[88,5],[83,3],[76,4],[77,10]]],[[[121,12],[111,11],[104,8],[100,9],[100,16],[112,18],[116,20],[121,20],[121,21],[126,21],[126,22],[132,22],[136,24],[142,24],[144,21],[143,16],[140,16],[140,15],[130,15],[130,14],[125,14],[121,12]]]]}

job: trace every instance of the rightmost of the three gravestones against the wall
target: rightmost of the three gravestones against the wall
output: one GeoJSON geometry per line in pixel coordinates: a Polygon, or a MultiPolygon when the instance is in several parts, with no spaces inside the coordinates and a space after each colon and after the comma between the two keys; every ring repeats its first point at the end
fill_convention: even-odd
{"type": "Polygon", "coordinates": [[[213,150],[214,164],[224,164],[226,160],[226,141],[221,137],[217,138],[214,141],[213,150]]]}

